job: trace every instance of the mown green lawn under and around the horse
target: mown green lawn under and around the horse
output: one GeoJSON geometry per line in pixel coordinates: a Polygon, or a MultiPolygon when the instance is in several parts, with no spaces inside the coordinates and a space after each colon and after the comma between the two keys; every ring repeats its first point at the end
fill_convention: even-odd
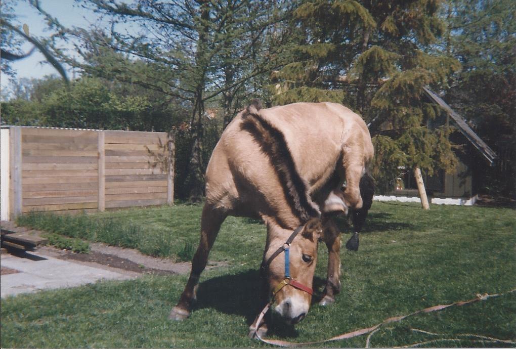
{"type": "MultiPolygon", "coordinates": [[[[177,205],[75,219],[134,226],[135,236],[121,235],[125,241],[151,252],[149,246],[154,246],[155,252],[160,250],[157,245],[165,244],[160,251],[179,260],[179,255],[187,257],[191,253],[188,244],[197,245],[200,211],[196,205],[177,205]]],[[[349,231],[343,220],[340,224],[349,231]]],[[[67,235],[76,234],[70,231],[67,235]]],[[[360,250],[341,253],[343,287],[335,304],[313,305],[307,318],[295,328],[275,323],[270,335],[296,342],[325,339],[391,316],[470,299],[477,293],[514,289],[515,232],[516,212],[511,209],[432,205],[430,211],[423,211],[415,204],[375,202],[361,234],[360,250]]],[[[90,235],[95,237],[92,241],[100,241],[102,234],[90,235]]],[[[343,240],[348,237],[344,234],[343,240]]],[[[179,299],[187,276],[145,276],[2,299],[1,346],[267,346],[247,338],[247,328],[258,311],[257,268],[264,245],[263,225],[229,217],[210,255],[211,260],[225,261],[227,266],[203,273],[196,309],[183,322],[169,322],[167,315],[179,299]]],[[[314,279],[316,296],[324,283],[326,263],[327,253],[321,244],[314,279]]],[[[514,314],[516,294],[512,293],[386,325],[371,337],[370,344],[392,347],[438,340],[426,346],[513,347],[500,342],[472,342],[474,338],[459,335],[514,341],[514,314]]],[[[363,347],[365,339],[316,346],[363,347]]]]}

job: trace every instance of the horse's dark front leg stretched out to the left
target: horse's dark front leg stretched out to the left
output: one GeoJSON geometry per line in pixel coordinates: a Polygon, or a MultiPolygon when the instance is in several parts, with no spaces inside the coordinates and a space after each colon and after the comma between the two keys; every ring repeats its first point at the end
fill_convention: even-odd
{"type": "Polygon", "coordinates": [[[215,209],[213,205],[208,203],[204,205],[201,216],[201,239],[199,247],[193,256],[190,277],[181,294],[179,303],[170,312],[170,320],[183,320],[190,315],[193,303],[195,303],[196,300],[199,277],[206,267],[209,251],[212,249],[220,226],[226,217],[227,214],[225,212],[215,209]]]}

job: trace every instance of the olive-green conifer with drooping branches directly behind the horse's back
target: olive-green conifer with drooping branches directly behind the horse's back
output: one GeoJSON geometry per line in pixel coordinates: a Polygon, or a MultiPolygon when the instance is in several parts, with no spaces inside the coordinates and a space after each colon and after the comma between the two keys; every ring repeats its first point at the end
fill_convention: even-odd
{"type": "Polygon", "coordinates": [[[374,176],[384,192],[399,168],[452,171],[449,128],[430,128],[439,90],[460,68],[436,45],[445,32],[438,0],[315,0],[295,11],[296,60],[275,74],[273,101],[333,101],[361,114],[373,135],[374,176]]]}

